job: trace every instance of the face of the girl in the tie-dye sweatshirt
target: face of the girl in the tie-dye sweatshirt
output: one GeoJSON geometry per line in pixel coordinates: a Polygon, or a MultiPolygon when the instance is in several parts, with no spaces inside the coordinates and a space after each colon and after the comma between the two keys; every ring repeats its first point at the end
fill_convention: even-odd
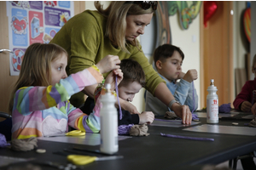
{"type": "Polygon", "coordinates": [[[67,55],[61,54],[60,57],[51,61],[51,84],[55,86],[56,83],[60,82],[61,79],[67,78],[66,66],[67,66],[67,55]]]}

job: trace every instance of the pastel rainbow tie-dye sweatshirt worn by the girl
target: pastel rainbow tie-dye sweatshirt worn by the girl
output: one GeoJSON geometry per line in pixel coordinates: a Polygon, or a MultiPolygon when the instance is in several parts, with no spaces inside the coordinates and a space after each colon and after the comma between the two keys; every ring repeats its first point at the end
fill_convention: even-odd
{"type": "Polygon", "coordinates": [[[24,87],[17,90],[12,112],[13,139],[66,133],[68,125],[88,133],[100,131],[100,103],[90,116],[73,107],[69,100],[84,87],[102,82],[96,66],[79,71],[55,86],[24,87]]]}

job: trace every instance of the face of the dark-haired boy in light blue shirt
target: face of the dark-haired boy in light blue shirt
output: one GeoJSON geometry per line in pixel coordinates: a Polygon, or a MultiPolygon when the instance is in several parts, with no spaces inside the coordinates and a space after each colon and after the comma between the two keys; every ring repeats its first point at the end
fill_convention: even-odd
{"type": "Polygon", "coordinates": [[[166,77],[167,80],[172,82],[173,80],[176,80],[179,74],[181,73],[182,64],[182,56],[177,51],[174,51],[172,57],[166,59],[165,62],[161,62],[159,65],[157,64],[157,68],[158,72],[163,77],[166,77]]]}

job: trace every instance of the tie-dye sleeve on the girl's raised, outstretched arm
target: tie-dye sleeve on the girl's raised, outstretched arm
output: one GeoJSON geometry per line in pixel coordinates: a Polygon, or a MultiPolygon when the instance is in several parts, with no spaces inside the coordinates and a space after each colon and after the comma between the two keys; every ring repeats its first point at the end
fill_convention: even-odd
{"type": "Polygon", "coordinates": [[[85,86],[102,82],[102,79],[102,74],[90,67],[61,79],[55,86],[20,88],[15,93],[13,111],[17,110],[22,115],[29,115],[32,111],[48,109],[62,101],[67,101],[71,95],[78,93],[85,86]]]}

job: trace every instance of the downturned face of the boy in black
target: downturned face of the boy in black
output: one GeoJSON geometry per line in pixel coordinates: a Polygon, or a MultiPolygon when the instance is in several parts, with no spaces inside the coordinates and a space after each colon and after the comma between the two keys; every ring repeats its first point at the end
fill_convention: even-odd
{"type": "Polygon", "coordinates": [[[135,94],[143,88],[138,82],[129,82],[126,84],[119,85],[119,98],[125,99],[126,101],[132,101],[135,94]]]}

